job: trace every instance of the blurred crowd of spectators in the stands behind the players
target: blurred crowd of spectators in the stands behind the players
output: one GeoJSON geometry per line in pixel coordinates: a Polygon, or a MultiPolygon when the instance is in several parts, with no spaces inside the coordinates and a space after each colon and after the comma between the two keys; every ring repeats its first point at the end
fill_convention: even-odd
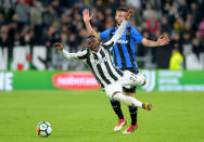
{"type": "MultiPolygon", "coordinates": [[[[204,52],[203,0],[0,0],[0,47],[9,49],[11,59],[16,46],[29,46],[30,49],[44,46],[48,49],[44,62],[49,63],[49,68],[53,62],[53,42],[67,44],[71,52],[80,50],[85,43],[88,35],[82,22],[84,9],[94,12],[91,24],[95,30],[103,31],[114,26],[119,5],[135,10],[129,24],[145,38],[156,40],[163,35],[171,39],[169,44],[154,49],[140,44],[138,60],[148,56],[151,62],[142,67],[168,68],[173,49],[183,57],[189,52],[197,57],[204,52]]],[[[62,67],[55,64],[55,68],[62,67]]],[[[77,67],[74,64],[64,69],[77,67]]]]}

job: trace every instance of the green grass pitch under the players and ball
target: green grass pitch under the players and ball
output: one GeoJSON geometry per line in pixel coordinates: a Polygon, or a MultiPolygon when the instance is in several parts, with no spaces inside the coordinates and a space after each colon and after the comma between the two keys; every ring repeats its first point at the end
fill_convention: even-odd
{"type": "Polygon", "coordinates": [[[117,118],[101,90],[0,92],[0,142],[204,142],[204,92],[139,91],[137,98],[153,109],[139,108],[139,128],[123,134],[113,131],[117,118]],[[36,134],[43,120],[52,125],[48,138],[36,134]]]}

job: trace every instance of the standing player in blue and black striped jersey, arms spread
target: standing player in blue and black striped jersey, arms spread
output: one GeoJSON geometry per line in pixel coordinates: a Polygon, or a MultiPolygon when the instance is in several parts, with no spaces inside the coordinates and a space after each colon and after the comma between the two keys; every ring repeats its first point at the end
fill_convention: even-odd
{"type": "MultiPolygon", "coordinates": [[[[93,16],[93,13],[91,15],[89,14],[89,10],[85,9],[82,11],[82,17],[84,22],[87,28],[87,31],[89,35],[93,35],[100,39],[111,39],[114,35],[119,25],[122,24],[122,21],[126,17],[128,14],[127,8],[118,8],[116,10],[115,14],[115,21],[116,26],[111,27],[102,33],[97,33],[90,25],[90,21],[93,16]]],[[[136,42],[142,43],[145,47],[158,47],[164,46],[169,42],[168,38],[162,38],[158,37],[157,41],[148,40],[143,36],[140,35],[140,33],[137,30],[137,28],[127,25],[125,29],[125,34],[122,36],[122,38],[117,41],[116,44],[114,44],[111,54],[113,56],[113,63],[114,65],[118,66],[122,70],[128,69],[133,74],[138,74],[138,64],[136,59],[136,42]]],[[[126,95],[133,96],[136,93],[136,87],[131,88],[124,88],[124,92],[126,92],[126,95]]],[[[122,128],[126,125],[126,119],[124,118],[120,103],[116,100],[111,100],[111,104],[113,106],[114,112],[116,113],[118,117],[118,124],[115,126],[114,130],[119,131],[122,128]]],[[[137,122],[137,111],[138,108],[136,106],[129,106],[130,117],[131,117],[131,125],[124,131],[124,133],[131,133],[135,129],[138,128],[137,122]]]]}

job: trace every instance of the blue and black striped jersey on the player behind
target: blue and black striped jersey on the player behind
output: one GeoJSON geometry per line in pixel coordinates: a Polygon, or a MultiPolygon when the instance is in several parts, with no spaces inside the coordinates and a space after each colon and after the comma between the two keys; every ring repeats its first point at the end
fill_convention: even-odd
{"type": "MultiPolygon", "coordinates": [[[[103,33],[100,33],[101,39],[111,39],[117,27],[111,27],[103,33]]],[[[112,48],[112,56],[114,65],[119,68],[136,67],[138,68],[137,57],[136,57],[136,42],[141,43],[143,36],[137,30],[137,28],[127,25],[126,29],[117,41],[117,43],[112,48]]]]}

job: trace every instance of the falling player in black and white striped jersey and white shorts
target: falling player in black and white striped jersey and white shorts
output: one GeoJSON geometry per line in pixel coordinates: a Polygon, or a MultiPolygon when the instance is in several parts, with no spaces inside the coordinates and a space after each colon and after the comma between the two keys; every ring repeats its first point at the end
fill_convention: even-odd
{"type": "Polygon", "coordinates": [[[123,95],[123,86],[143,86],[145,83],[144,76],[142,74],[132,74],[129,70],[120,70],[113,65],[109,52],[109,49],[123,35],[126,24],[127,21],[124,21],[112,39],[105,43],[101,44],[94,36],[88,37],[88,48],[77,53],[68,53],[61,43],[54,43],[54,46],[66,60],[75,59],[86,62],[110,99],[123,102],[128,106],[139,106],[150,111],[151,104],[142,103],[132,96],[123,95]]]}

